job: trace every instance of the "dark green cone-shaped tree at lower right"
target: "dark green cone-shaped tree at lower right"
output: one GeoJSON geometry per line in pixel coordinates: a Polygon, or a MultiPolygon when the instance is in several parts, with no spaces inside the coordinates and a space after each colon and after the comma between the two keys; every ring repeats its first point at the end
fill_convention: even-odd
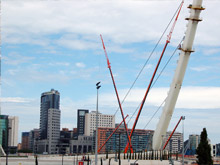
{"type": "Polygon", "coordinates": [[[201,165],[211,165],[213,164],[211,156],[211,147],[207,140],[207,131],[206,128],[203,128],[203,131],[200,135],[200,143],[196,149],[197,153],[197,163],[201,165]]]}

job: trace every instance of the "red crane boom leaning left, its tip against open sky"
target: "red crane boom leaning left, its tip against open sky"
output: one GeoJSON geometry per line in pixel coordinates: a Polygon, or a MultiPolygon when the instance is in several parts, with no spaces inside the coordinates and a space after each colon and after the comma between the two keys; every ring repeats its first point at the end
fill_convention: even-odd
{"type": "Polygon", "coordinates": [[[131,153],[133,153],[133,149],[132,149],[132,145],[131,145],[131,139],[130,139],[129,132],[128,132],[128,127],[127,127],[127,124],[126,124],[126,121],[125,121],[123,109],[122,109],[122,106],[121,106],[121,101],[120,101],[120,98],[119,98],[119,95],[118,95],[118,91],[117,91],[117,88],[116,88],[115,80],[114,80],[114,77],[113,77],[113,74],[112,74],[112,70],[111,70],[111,65],[110,65],[110,62],[109,62],[109,58],[108,58],[107,51],[105,49],[105,44],[104,44],[104,41],[102,39],[102,35],[101,34],[100,34],[100,37],[101,37],[101,40],[102,40],[102,45],[103,45],[103,49],[104,49],[104,52],[105,52],[105,57],[106,57],[106,60],[107,60],[107,65],[108,65],[108,68],[109,68],[109,71],[110,71],[110,75],[111,75],[111,78],[112,78],[112,82],[113,82],[113,85],[114,85],[114,88],[115,88],[115,93],[116,93],[118,104],[119,104],[119,108],[120,108],[120,111],[121,111],[121,116],[122,116],[122,119],[123,119],[123,122],[124,122],[124,125],[125,125],[125,130],[126,130],[126,134],[127,134],[127,139],[128,139],[129,147],[130,147],[131,153]]]}

